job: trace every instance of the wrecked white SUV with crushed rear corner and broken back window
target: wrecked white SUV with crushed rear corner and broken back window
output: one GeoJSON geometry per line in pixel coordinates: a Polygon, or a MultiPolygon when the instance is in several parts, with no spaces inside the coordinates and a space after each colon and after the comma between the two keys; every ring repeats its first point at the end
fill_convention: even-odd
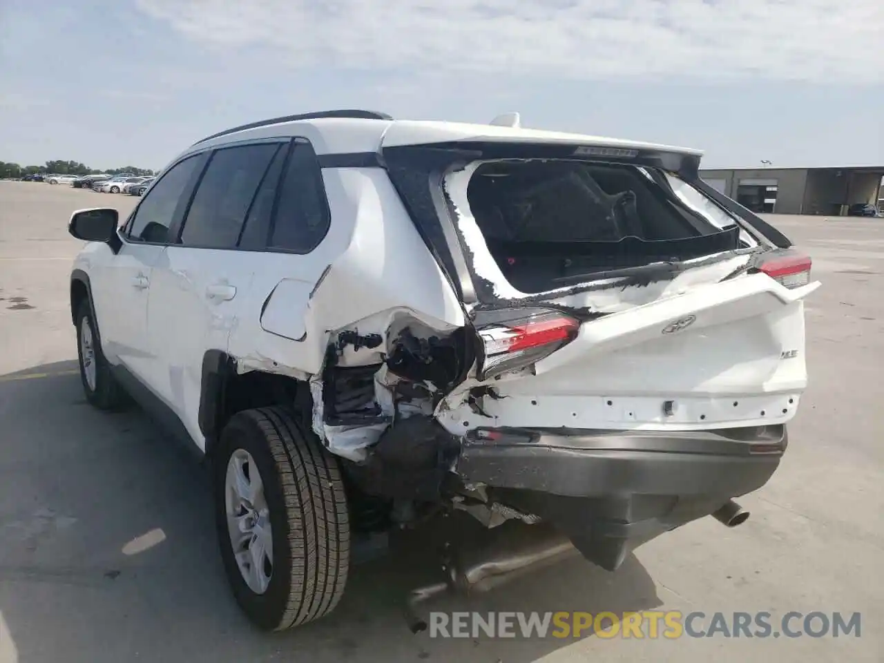
{"type": "Polygon", "coordinates": [[[218,133],[122,225],[73,214],[83,387],[210,462],[263,628],[329,613],[365,537],[453,511],[497,552],[447,548],[415,598],[574,550],[613,570],[742,522],[806,385],[811,261],[699,162],[512,115],[218,133]]]}

